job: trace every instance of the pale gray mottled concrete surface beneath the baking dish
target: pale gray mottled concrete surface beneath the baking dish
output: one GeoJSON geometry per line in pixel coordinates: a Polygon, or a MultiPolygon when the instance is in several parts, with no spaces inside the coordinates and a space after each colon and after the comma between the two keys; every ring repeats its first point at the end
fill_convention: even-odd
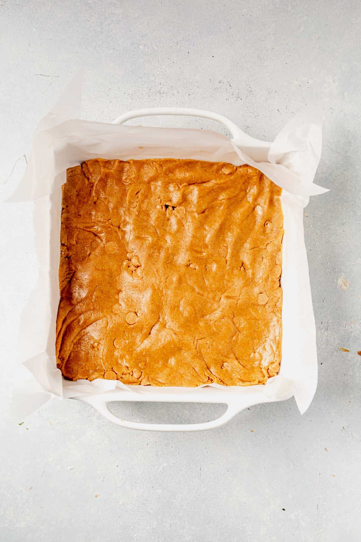
{"type": "MultiPolygon", "coordinates": [[[[194,434],[121,430],[70,400],[47,403],[23,425],[9,420],[14,383],[28,378],[17,326],[36,261],[31,205],[2,205],[0,539],[359,541],[359,2],[1,0],[0,9],[2,199],[23,174],[38,120],[80,67],[87,119],[200,107],[269,140],[318,99],[325,124],[316,182],[331,189],[312,199],[304,220],[319,355],[310,409],[301,417],[293,399],[254,406],[194,434]]],[[[201,421],[222,406],[116,410],[201,421]]]]}

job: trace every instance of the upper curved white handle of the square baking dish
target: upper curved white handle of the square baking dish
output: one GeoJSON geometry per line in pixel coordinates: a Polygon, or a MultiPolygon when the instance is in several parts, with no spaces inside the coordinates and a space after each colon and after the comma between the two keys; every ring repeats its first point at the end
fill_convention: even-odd
{"type": "Polygon", "coordinates": [[[256,146],[270,147],[272,143],[255,139],[243,132],[237,124],[234,124],[231,119],[228,119],[220,113],[205,111],[204,109],[192,109],[188,107],[148,107],[145,109],[134,109],[128,113],[123,113],[120,117],[113,120],[112,124],[124,124],[127,120],[136,119],[137,117],[149,117],[151,115],[188,115],[189,117],[202,117],[205,119],[215,120],[224,124],[232,134],[232,141],[238,146],[256,146]]]}

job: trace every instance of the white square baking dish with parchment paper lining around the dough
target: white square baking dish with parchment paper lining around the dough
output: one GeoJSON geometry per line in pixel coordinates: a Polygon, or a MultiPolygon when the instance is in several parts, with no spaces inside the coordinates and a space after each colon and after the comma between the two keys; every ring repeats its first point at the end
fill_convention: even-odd
{"type": "MultiPolygon", "coordinates": [[[[293,395],[300,411],[304,412],[317,385],[316,333],[304,245],[303,209],[310,195],[326,191],[312,184],[320,156],[318,122],[307,119],[304,113],[288,124],[274,143],[267,143],[249,137],[226,117],[199,109],[141,109],[121,115],[113,124],[69,120],[74,114],[74,85],[78,85],[77,81],[70,84],[55,109],[41,122],[23,183],[11,199],[34,201],[40,277],[24,309],[20,336],[28,345],[29,355],[24,365],[35,376],[42,391],[49,397],[71,397],[87,402],[107,420],[121,427],[143,430],[212,429],[248,406],[283,401],[293,395]],[[232,139],[204,130],[123,125],[136,117],[164,114],[194,115],[222,122],[231,132],[232,139]],[[234,165],[246,163],[257,167],[283,188],[282,361],[279,374],[269,379],[266,385],[157,388],[126,386],[117,381],[99,379],[94,382],[63,379],[60,370],[56,369],[55,360],[61,185],[65,182],[67,167],[98,157],[123,160],[172,157],[224,161],[234,165]],[[31,330],[29,322],[32,322],[31,330]],[[112,401],[226,403],[228,408],[220,418],[206,423],[146,424],[122,420],[111,414],[107,404],[112,401]]],[[[34,410],[30,396],[29,388],[29,393],[23,396],[23,400],[28,401],[29,412],[34,410]]]]}

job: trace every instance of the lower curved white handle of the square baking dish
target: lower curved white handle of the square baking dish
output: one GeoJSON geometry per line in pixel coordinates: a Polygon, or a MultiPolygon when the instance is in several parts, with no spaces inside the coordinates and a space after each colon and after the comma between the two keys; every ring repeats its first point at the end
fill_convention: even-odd
{"type": "MultiPolygon", "coordinates": [[[[90,404],[91,406],[94,406],[94,408],[110,422],[113,422],[120,427],[126,427],[128,429],[139,429],[141,431],[204,431],[206,429],[215,429],[216,427],[220,427],[220,425],[229,422],[229,420],[231,420],[236,414],[238,414],[238,412],[247,408],[247,405],[240,404],[239,402],[226,403],[226,412],[222,414],[222,416],[216,418],[216,420],[212,420],[211,422],[187,424],[142,423],[122,420],[122,418],[118,418],[117,416],[112,414],[108,409],[108,402],[110,402],[109,397],[107,397],[107,401],[107,398],[104,397],[102,393],[76,398],[80,401],[90,404]]],[[[162,399],[159,399],[159,401],[162,402],[162,399]]]]}

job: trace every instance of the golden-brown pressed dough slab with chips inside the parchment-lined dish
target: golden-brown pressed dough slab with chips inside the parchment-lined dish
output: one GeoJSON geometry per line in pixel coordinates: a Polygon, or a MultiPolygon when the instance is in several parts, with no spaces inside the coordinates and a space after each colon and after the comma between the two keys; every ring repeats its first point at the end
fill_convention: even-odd
{"type": "Polygon", "coordinates": [[[265,383],[281,359],[281,189],[253,167],[94,159],[63,186],[57,365],[125,384],[265,383]]]}

